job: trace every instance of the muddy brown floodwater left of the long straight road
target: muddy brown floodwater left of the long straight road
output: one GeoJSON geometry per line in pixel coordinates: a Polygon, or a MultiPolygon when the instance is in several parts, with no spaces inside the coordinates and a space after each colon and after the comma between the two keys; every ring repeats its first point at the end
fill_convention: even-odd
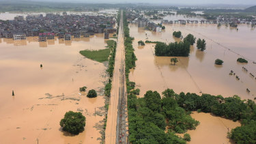
{"type": "Polygon", "coordinates": [[[44,44],[36,38],[0,39],[0,143],[100,143],[106,63],[79,51],[104,46],[103,34],[44,44]],[[83,86],[96,89],[98,97],[80,95],[83,86]],[[61,131],[59,121],[67,111],[85,115],[84,132],[70,136],[61,131]]]}

